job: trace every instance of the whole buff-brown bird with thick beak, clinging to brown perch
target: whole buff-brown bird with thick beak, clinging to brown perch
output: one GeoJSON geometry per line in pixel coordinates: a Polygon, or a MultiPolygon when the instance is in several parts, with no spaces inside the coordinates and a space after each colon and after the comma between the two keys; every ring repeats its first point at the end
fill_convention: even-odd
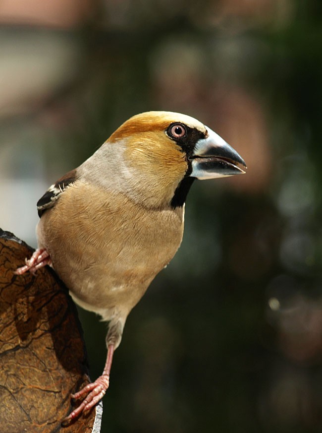
{"type": "Polygon", "coordinates": [[[71,398],[70,423],[105,395],[126,318],[179,248],[196,179],[244,174],[242,157],[210,127],[150,111],[121,124],[37,203],[38,248],[15,273],[50,265],[80,307],[109,322],[102,375],[71,398]]]}

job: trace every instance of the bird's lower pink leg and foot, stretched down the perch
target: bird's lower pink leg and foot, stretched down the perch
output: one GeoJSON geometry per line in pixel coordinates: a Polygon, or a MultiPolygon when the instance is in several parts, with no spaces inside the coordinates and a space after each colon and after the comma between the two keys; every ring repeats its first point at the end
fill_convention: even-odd
{"type": "Polygon", "coordinates": [[[77,399],[82,395],[88,395],[81,404],[68,415],[68,417],[62,420],[62,426],[67,426],[70,421],[78,417],[82,412],[92,409],[100,400],[102,400],[109,385],[109,373],[112,365],[113,354],[114,345],[110,345],[107,349],[107,360],[102,375],[98,377],[95,382],[89,383],[80,391],[71,394],[71,397],[74,399],[77,399]]]}

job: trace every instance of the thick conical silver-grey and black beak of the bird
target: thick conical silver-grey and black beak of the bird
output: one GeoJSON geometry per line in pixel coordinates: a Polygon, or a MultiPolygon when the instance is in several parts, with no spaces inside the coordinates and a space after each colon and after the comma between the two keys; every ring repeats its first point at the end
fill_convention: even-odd
{"type": "Polygon", "coordinates": [[[208,136],[197,141],[192,158],[191,177],[197,179],[215,179],[224,176],[244,174],[239,167],[246,167],[243,158],[229,146],[218,134],[207,127],[208,136]]]}

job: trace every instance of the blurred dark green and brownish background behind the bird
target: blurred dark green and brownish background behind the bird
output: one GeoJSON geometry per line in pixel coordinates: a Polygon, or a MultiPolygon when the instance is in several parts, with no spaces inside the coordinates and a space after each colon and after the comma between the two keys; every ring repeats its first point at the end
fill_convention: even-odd
{"type": "MultiPolygon", "coordinates": [[[[2,1],[0,83],[0,226],[34,247],[40,196],[136,113],[191,115],[248,165],[192,187],[102,432],[321,432],[322,2],[2,1]]],[[[95,379],[106,324],[80,318],[95,379]]]]}

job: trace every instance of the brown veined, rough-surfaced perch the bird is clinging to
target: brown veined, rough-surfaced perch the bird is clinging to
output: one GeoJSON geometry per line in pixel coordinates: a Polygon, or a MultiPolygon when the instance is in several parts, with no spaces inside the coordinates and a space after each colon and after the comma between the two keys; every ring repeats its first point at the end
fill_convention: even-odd
{"type": "MultiPolygon", "coordinates": [[[[0,230],[0,432],[99,432],[96,409],[68,427],[70,393],[89,382],[77,311],[48,266],[13,271],[33,250],[0,230]]],[[[99,408],[100,411],[100,408],[99,408]]]]}

